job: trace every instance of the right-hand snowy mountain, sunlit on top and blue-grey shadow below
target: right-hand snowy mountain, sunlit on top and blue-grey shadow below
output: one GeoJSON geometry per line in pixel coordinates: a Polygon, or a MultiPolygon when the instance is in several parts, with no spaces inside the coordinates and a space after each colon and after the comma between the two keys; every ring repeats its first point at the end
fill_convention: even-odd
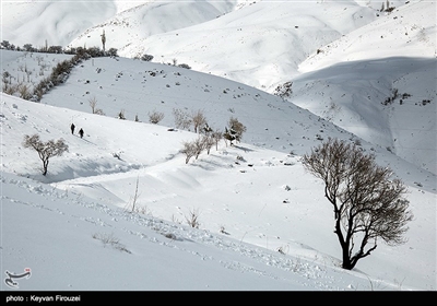
{"type": "Polygon", "coordinates": [[[288,99],[436,174],[435,11],[409,3],[328,44],[299,66],[288,99]]]}

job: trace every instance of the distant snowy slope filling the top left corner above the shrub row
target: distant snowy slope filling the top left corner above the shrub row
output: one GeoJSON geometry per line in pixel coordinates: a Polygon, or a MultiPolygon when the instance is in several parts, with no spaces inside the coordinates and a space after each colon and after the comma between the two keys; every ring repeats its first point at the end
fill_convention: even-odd
{"type": "Polygon", "coordinates": [[[2,39],[36,48],[67,46],[117,13],[118,1],[2,1],[2,39]]]}

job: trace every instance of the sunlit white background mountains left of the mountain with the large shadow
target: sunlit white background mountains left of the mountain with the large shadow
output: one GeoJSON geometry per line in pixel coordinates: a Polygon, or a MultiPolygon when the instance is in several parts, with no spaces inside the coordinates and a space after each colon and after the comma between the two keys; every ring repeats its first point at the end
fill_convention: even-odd
{"type": "MultiPolygon", "coordinates": [[[[370,1],[55,1],[2,3],[3,39],[117,48],[271,90],[318,48],[378,19],[370,1]],[[26,13],[22,13],[24,11],[26,13]]],[[[404,1],[390,1],[402,7],[404,1]]],[[[382,13],[381,13],[382,14],[382,13]]]]}

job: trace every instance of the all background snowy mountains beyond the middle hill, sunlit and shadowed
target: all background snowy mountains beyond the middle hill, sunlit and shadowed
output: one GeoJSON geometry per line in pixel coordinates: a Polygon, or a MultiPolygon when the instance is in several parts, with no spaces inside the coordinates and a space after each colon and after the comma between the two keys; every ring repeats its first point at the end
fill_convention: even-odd
{"type": "Polygon", "coordinates": [[[290,82],[293,96],[287,101],[436,174],[435,138],[420,143],[416,137],[437,132],[435,1],[389,1],[389,5],[352,0],[93,1],[87,7],[81,1],[11,1],[2,5],[8,12],[3,39],[17,46],[42,47],[47,42],[102,47],[105,31],[106,49],[117,48],[122,57],[147,54],[154,62],[187,63],[269,93],[290,82]],[[401,69],[399,57],[405,58],[401,69]],[[351,71],[359,73],[351,78],[351,71]],[[416,80],[422,80],[420,86],[416,80]],[[398,98],[383,106],[393,91],[398,98]],[[403,94],[410,98],[401,98],[403,94]]]}

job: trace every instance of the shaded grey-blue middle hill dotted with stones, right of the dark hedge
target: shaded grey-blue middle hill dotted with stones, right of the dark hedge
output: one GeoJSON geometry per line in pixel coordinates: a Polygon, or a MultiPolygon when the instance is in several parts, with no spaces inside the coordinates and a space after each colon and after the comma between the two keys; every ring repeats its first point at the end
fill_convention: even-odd
{"type": "Polygon", "coordinates": [[[247,126],[244,141],[282,152],[303,153],[302,142],[315,144],[330,134],[353,139],[308,110],[277,96],[227,79],[174,66],[132,59],[96,58],[71,73],[66,85],[45,95],[42,103],[91,113],[88,101],[107,116],[122,110],[149,121],[149,114],[164,114],[162,125],[174,127],[174,110],[201,110],[213,129],[224,130],[231,117],[247,126]]]}

